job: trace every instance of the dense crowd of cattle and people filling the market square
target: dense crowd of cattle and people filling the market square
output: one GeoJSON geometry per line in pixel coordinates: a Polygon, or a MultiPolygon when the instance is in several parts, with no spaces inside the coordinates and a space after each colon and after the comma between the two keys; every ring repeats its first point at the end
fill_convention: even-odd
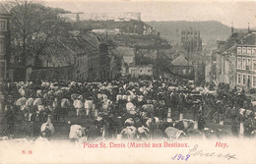
{"type": "Polygon", "coordinates": [[[1,138],[50,139],[61,126],[72,140],[255,136],[254,99],[225,84],[198,87],[159,79],[0,86],[1,138]]]}

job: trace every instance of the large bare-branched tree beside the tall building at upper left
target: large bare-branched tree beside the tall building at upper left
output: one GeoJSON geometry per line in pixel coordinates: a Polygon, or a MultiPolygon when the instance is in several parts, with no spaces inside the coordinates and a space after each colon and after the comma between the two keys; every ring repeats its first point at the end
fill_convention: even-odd
{"type": "Polygon", "coordinates": [[[24,67],[33,64],[49,40],[64,30],[59,13],[64,10],[45,7],[31,0],[14,0],[7,4],[11,14],[12,55],[24,67]]]}

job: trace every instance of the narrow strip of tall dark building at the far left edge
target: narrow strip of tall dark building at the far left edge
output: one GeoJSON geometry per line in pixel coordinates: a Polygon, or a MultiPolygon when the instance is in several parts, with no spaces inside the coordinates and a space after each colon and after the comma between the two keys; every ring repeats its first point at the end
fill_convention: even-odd
{"type": "Polygon", "coordinates": [[[0,3],[0,81],[8,78],[10,58],[10,14],[0,3]]]}

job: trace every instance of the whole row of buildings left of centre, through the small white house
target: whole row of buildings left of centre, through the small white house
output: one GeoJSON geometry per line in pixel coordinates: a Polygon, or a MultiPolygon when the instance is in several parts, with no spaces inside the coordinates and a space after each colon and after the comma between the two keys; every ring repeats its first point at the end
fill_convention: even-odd
{"type": "Polygon", "coordinates": [[[27,63],[12,60],[10,14],[0,4],[0,81],[35,79],[108,81],[119,76],[153,76],[153,66],[135,65],[135,49],[111,46],[86,30],[52,38],[41,54],[27,63]]]}

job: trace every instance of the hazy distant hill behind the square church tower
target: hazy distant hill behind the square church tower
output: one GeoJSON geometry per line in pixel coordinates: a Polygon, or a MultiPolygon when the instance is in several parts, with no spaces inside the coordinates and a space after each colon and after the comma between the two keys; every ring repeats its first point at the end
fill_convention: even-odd
{"type": "Polygon", "coordinates": [[[186,21],[168,21],[168,22],[147,22],[148,25],[155,27],[160,31],[160,36],[171,43],[180,43],[181,30],[200,30],[203,44],[206,48],[216,47],[217,40],[225,40],[231,32],[230,27],[224,26],[217,21],[207,22],[186,22],[186,21]]]}

